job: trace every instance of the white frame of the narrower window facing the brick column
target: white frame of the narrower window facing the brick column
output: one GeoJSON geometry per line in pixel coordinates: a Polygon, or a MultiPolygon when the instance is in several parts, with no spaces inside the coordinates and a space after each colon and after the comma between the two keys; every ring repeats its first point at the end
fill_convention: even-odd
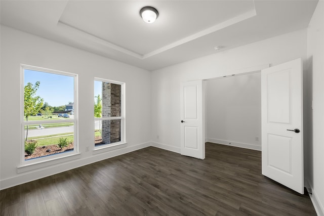
{"type": "MultiPolygon", "coordinates": [[[[119,117],[94,117],[94,126],[95,126],[95,121],[103,121],[103,120],[114,120],[114,119],[120,119],[120,141],[119,142],[115,142],[115,143],[111,143],[111,144],[102,144],[102,145],[98,145],[95,146],[95,143],[93,145],[94,147],[94,151],[96,150],[101,150],[101,149],[107,149],[110,147],[114,147],[114,146],[119,146],[119,145],[123,145],[126,144],[126,112],[125,112],[125,90],[126,90],[126,83],[125,82],[120,82],[120,81],[115,81],[115,80],[110,80],[110,79],[104,79],[104,78],[99,78],[99,77],[95,77],[94,78],[94,82],[95,81],[101,81],[101,82],[108,82],[108,83],[113,83],[113,84],[119,84],[120,85],[120,116],[119,117]]],[[[95,97],[95,93],[93,93],[93,96],[95,97]]],[[[102,95],[101,95],[102,96],[102,95]]],[[[102,107],[103,108],[103,107],[102,107]]],[[[93,116],[94,116],[94,109],[93,109],[93,116]]],[[[95,141],[95,129],[94,129],[94,141],[95,141]]]]}

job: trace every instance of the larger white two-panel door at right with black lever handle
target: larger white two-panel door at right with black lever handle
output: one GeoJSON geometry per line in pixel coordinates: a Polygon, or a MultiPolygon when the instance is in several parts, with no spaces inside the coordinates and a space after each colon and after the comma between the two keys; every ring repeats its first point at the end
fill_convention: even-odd
{"type": "Polygon", "coordinates": [[[261,72],[262,174],[304,194],[302,61],[261,72]]]}

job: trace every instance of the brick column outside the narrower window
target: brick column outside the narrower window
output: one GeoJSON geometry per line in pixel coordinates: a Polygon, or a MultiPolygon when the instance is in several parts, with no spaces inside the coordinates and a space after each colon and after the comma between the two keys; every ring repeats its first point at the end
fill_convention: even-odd
{"type": "MultiPolygon", "coordinates": [[[[121,85],[102,82],[102,117],[121,116],[121,85]]],[[[121,120],[102,121],[102,141],[106,144],[119,142],[121,120]]]]}

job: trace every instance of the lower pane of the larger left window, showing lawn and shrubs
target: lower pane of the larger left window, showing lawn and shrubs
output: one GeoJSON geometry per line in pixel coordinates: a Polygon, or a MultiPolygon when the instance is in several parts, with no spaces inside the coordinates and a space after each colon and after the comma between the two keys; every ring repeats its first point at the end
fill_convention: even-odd
{"type": "Polygon", "coordinates": [[[72,122],[25,125],[25,160],[73,151],[73,149],[74,124],[72,122]],[[36,147],[32,148],[33,146],[36,147]]]}

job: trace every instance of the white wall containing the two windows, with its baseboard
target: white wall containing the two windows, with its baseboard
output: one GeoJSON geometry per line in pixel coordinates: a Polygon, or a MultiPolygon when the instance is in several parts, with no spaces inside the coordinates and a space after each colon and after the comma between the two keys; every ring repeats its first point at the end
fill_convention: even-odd
{"type": "Polygon", "coordinates": [[[1,188],[150,145],[150,72],[1,26],[1,188]],[[20,64],[78,74],[80,158],[17,174],[21,155],[20,64]],[[126,146],[93,155],[94,77],[126,82],[126,146]],[[112,151],[113,150],[113,151],[112,151]]]}

